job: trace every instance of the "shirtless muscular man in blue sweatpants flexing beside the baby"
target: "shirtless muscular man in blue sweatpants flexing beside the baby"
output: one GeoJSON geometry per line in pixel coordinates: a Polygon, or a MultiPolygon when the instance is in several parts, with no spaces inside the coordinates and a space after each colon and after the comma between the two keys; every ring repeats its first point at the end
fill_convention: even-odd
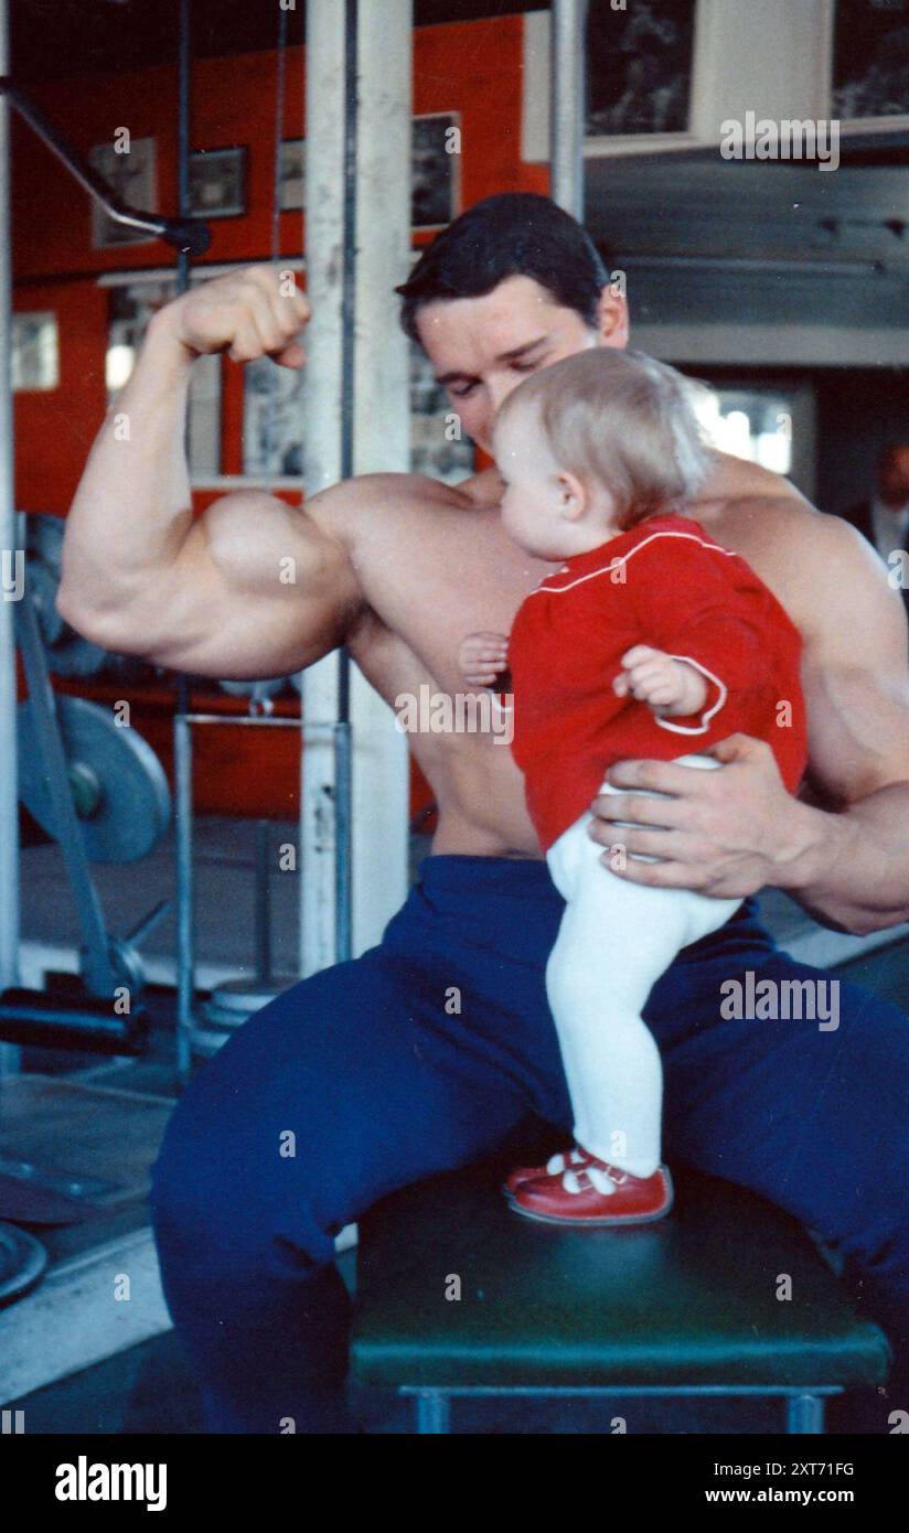
{"type": "MultiPolygon", "coordinates": [[[[624,345],[625,304],[582,230],[544,198],[489,198],[422,256],[405,327],[464,429],[486,446],[520,377],[593,345],[624,345]]],[[[67,521],[61,613],[90,639],[210,676],[311,664],[340,642],[388,701],[457,693],[458,642],[507,632],[552,566],[515,547],[495,469],[451,489],[368,475],[304,510],[259,492],[193,521],[187,379],[202,353],[302,363],[302,297],[265,267],[162,310],[116,400],[67,521]],[[123,435],[120,432],[118,435],[123,435]],[[297,584],[279,579],[291,555],[297,584]]],[[[750,897],[789,891],[851,932],[909,915],[906,621],[874,552],[774,475],[717,455],[693,514],[742,553],[805,638],[812,802],[791,799],[770,747],[733,737],[724,771],[624,762],[595,835],[659,863],[624,877],[750,897]],[[635,789],[671,794],[655,800],[635,789]]],[[[152,1214],[175,1325],[202,1383],[205,1429],[349,1429],[348,1297],[333,1236],[392,1188],[541,1125],[570,1125],[544,958],[561,898],[540,858],[510,753],[492,736],[412,737],[440,806],[422,878],[380,946],[251,1018],[193,1079],[155,1165],[152,1214]],[[451,1016],[446,990],[458,986],[451,1016]],[[296,1156],[279,1136],[296,1133],[296,1156]]],[[[605,855],[605,852],[604,852],[605,855]]],[[[866,1430],[909,1407],[909,1024],[842,986],[840,1026],[730,1021],[720,986],[822,980],[779,954],[748,900],[655,986],[665,1159],[750,1187],[840,1257],[897,1354],[866,1430]]],[[[768,1271],[768,1282],[774,1275],[768,1271]]]]}

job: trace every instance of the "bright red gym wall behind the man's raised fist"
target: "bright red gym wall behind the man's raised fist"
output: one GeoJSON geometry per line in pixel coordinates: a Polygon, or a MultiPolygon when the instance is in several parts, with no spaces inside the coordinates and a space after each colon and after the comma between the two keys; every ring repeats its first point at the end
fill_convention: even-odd
{"type": "MultiPolygon", "coordinates": [[[[547,190],[546,167],[527,166],[520,158],[523,25],[521,15],[510,15],[422,28],[415,34],[414,112],[460,113],[458,212],[491,192],[547,190]]],[[[287,57],[285,138],[305,136],[302,54],[297,48],[287,57]]],[[[274,87],[274,54],[207,58],[193,69],[193,146],[248,146],[248,212],[242,218],[212,219],[213,241],[205,262],[262,259],[271,253],[274,87]]],[[[176,208],[173,69],[80,77],[34,94],[83,155],[94,144],[110,143],[118,127],[129,127],[133,138],[153,136],[158,205],[176,208]]],[[[97,287],[97,274],[172,267],[173,251],[159,241],[92,250],[87,195],[20,121],[14,127],[12,178],[15,307],[55,310],[60,323],[60,386],[15,396],[17,504],[66,515],[106,408],[107,293],[97,287]]],[[[415,242],[431,238],[417,235],[415,242]]],[[[282,213],[281,254],[299,254],[302,244],[300,215],[282,213]]],[[[225,363],[225,469],[239,468],[239,369],[225,363]]],[[[201,492],[196,506],[212,498],[201,492]]],[[[281,731],[261,731],[258,737],[267,739],[268,733],[281,731]]],[[[296,780],[284,776],[274,782],[274,811],[285,814],[288,796],[296,796],[296,780]]],[[[420,788],[415,802],[425,799],[420,788]]],[[[230,806],[236,806],[236,794],[230,806]]]]}

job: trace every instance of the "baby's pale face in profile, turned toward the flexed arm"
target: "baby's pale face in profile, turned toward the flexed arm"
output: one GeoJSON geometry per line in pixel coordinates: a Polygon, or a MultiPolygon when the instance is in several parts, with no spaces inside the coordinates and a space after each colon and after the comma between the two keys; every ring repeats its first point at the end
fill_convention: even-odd
{"type": "Polygon", "coordinates": [[[492,446],[504,480],[501,520],[509,537],[540,560],[575,552],[572,524],[563,515],[564,480],[537,412],[520,406],[495,426],[492,446]]]}

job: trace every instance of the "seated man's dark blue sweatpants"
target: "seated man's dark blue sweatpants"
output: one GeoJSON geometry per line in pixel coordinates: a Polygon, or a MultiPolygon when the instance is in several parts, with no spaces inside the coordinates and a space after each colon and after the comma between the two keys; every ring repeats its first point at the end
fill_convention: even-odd
{"type": "MultiPolygon", "coordinates": [[[[207,1432],[351,1430],[337,1231],[504,1144],[523,1159],[541,1121],[570,1139],[544,989],[563,909],[544,862],[428,857],[377,947],[277,996],[195,1076],[150,1210],[207,1432]]],[[[848,984],[835,1030],[727,1021],[720,986],[748,970],[828,978],[780,954],[747,901],[650,993],[664,1159],[753,1188],[838,1252],[895,1351],[868,1427],[886,1432],[909,1409],[909,1021],[848,984]]]]}

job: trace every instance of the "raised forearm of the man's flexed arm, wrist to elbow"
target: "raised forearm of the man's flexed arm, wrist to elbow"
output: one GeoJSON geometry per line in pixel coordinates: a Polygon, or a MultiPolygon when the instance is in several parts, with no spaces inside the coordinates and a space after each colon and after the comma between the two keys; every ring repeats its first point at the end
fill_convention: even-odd
{"type": "Polygon", "coordinates": [[[193,354],[164,314],[95,440],[63,546],[58,607],[81,632],[123,612],[192,526],[185,411],[193,354]]]}

